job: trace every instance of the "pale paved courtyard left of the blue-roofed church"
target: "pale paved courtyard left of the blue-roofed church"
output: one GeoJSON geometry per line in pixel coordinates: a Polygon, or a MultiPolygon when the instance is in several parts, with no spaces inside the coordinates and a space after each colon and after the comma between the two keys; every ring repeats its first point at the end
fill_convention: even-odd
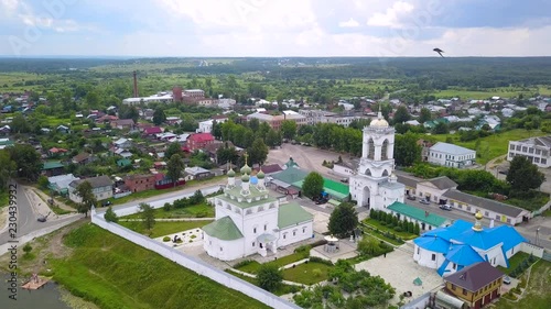
{"type": "Polygon", "coordinates": [[[420,266],[412,256],[412,245],[406,243],[399,249],[375,257],[356,265],[356,269],[365,269],[374,276],[380,276],[396,288],[396,297],[399,297],[404,291],[411,291],[412,296],[407,299],[415,299],[417,297],[431,291],[443,284],[442,278],[435,269],[420,266]],[[420,278],[422,285],[415,286],[413,280],[420,278]]]}

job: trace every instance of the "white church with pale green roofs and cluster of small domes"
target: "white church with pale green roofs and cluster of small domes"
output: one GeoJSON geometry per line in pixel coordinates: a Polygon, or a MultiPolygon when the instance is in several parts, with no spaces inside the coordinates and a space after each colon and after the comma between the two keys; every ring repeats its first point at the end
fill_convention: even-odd
{"type": "Polygon", "coordinates": [[[313,216],[298,203],[280,205],[264,186],[260,170],[241,168],[241,185],[228,172],[224,194],[214,198],[216,221],[203,227],[203,247],[208,255],[233,261],[251,254],[267,256],[278,247],[313,238],[313,216]]]}

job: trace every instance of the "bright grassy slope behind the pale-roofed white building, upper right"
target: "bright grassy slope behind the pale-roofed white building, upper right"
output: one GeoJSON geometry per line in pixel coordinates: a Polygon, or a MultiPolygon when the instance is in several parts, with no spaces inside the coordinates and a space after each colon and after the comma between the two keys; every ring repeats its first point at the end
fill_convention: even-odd
{"type": "Polygon", "coordinates": [[[539,130],[527,131],[523,129],[515,129],[506,132],[498,132],[489,136],[469,142],[461,142],[458,134],[439,134],[431,135],[431,137],[434,137],[439,142],[445,142],[447,137],[452,137],[454,144],[469,150],[476,150],[476,142],[479,141],[479,148],[476,150],[476,162],[479,164],[486,164],[488,161],[495,157],[507,154],[509,141],[518,141],[522,139],[543,135],[547,134],[539,130]]]}

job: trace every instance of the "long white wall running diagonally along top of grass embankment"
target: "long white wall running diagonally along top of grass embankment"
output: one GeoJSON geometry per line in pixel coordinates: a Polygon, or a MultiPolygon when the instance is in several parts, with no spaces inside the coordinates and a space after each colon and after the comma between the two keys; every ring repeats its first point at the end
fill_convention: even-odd
{"type": "MultiPolygon", "coordinates": [[[[119,214],[119,213],[117,213],[119,214]]],[[[120,214],[119,214],[120,216],[120,214]]],[[[108,230],[109,232],[117,234],[126,240],[129,240],[147,250],[153,251],[170,261],[173,261],[187,269],[191,269],[198,275],[205,276],[212,280],[219,283],[223,286],[240,291],[258,301],[266,304],[272,308],[278,309],[300,309],[294,304],[291,304],[283,298],[277,297],[276,295],[268,293],[255,285],[251,285],[245,280],[241,280],[230,274],[224,273],[218,268],[215,268],[207,263],[197,260],[193,256],[188,256],[177,250],[159,243],[152,239],[149,239],[142,234],[136,233],[129,229],[126,229],[119,224],[107,222],[104,219],[102,213],[96,213],[96,210],[91,210],[91,222],[98,227],[108,230]]]]}

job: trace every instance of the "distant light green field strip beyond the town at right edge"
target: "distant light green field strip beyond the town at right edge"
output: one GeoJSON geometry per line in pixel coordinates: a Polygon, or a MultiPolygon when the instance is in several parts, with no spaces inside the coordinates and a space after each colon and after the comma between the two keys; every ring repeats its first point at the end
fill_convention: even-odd
{"type": "Polygon", "coordinates": [[[474,100],[483,100],[489,99],[491,97],[501,97],[501,98],[516,98],[519,93],[522,93],[525,97],[531,97],[534,93],[540,93],[544,96],[551,95],[551,87],[549,86],[540,86],[532,88],[495,88],[495,89],[482,89],[479,91],[466,90],[463,88],[455,89],[446,89],[446,90],[437,90],[432,92],[431,95],[436,98],[461,98],[463,100],[474,99],[474,100]]]}

